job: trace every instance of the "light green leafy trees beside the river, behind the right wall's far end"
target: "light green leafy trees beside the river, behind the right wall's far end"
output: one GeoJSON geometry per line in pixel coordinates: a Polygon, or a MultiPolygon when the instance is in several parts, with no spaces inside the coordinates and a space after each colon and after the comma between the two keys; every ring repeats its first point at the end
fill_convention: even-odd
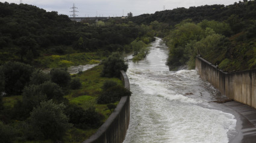
{"type": "Polygon", "coordinates": [[[195,68],[196,55],[205,57],[208,54],[213,54],[214,49],[223,46],[225,36],[217,34],[216,31],[224,33],[230,29],[229,26],[218,28],[226,23],[214,20],[204,20],[198,24],[191,21],[191,19],[187,19],[175,25],[175,29],[165,37],[167,46],[170,47],[167,64],[172,70],[185,64],[188,64],[189,68],[195,68]],[[217,30],[214,31],[210,27],[217,30]]]}

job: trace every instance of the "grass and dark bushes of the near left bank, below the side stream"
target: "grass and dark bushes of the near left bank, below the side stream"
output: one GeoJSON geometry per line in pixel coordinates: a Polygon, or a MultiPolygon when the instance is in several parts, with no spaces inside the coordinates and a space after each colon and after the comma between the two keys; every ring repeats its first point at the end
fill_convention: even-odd
{"type": "MultiPolygon", "coordinates": [[[[119,101],[113,101],[111,107],[96,103],[98,97],[104,93],[102,87],[108,87],[104,86],[105,81],[114,83],[118,91],[123,89],[120,79],[101,77],[102,69],[103,65],[99,65],[72,75],[68,84],[70,86],[64,84],[65,91],[60,85],[70,78],[66,76],[66,71],[54,69],[53,71],[58,71],[55,76],[42,73],[41,70],[30,72],[31,80],[22,90],[22,96],[1,96],[0,132],[5,132],[2,134],[5,137],[1,136],[2,141],[82,142],[89,138],[107,120],[113,106],[119,101]],[[60,81],[63,81],[61,84],[52,82],[53,78],[58,79],[60,75],[60,81]],[[77,87],[77,84],[81,87],[72,87],[77,87]],[[47,130],[51,132],[46,132],[47,130]],[[9,138],[9,135],[12,138],[9,138]]],[[[5,73],[5,76],[8,74],[5,73]]],[[[120,92],[119,97],[126,95],[120,92]]]]}

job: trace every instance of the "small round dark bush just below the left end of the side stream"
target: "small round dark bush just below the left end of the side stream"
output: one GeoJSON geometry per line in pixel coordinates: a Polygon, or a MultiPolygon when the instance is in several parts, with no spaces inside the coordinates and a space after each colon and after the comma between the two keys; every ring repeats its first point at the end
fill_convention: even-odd
{"type": "Polygon", "coordinates": [[[54,68],[50,71],[51,81],[55,84],[60,85],[60,87],[67,87],[71,80],[71,76],[65,70],[60,68],[54,68]]]}

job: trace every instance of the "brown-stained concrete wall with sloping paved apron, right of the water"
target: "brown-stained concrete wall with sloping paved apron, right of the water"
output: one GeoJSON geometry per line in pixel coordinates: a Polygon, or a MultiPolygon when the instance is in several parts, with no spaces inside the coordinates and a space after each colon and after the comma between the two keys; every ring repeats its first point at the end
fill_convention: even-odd
{"type": "Polygon", "coordinates": [[[256,142],[256,70],[225,73],[200,57],[196,58],[196,70],[222,95],[234,100],[224,103],[238,120],[237,136],[229,142],[256,142]]]}

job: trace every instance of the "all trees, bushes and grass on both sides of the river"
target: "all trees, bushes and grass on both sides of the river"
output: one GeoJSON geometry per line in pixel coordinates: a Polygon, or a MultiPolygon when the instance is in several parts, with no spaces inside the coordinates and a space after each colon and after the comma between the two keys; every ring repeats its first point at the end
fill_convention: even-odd
{"type": "Polygon", "coordinates": [[[169,46],[172,70],[194,68],[196,55],[225,71],[256,68],[255,1],[128,16],[72,22],[55,11],[0,2],[1,141],[89,138],[120,97],[131,95],[118,79],[128,68],[122,53],[132,52],[134,62],[145,58],[154,36],[169,46]],[[65,70],[100,62],[76,75],[65,70]]]}

